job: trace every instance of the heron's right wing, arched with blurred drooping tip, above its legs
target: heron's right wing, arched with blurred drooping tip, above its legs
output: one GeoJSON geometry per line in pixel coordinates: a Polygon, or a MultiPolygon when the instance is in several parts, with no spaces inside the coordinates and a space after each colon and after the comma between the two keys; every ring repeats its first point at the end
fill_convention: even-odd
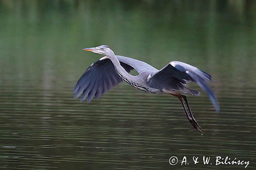
{"type": "Polygon", "coordinates": [[[206,72],[201,71],[199,68],[184,62],[172,61],[148,79],[148,82],[152,84],[157,84],[159,81],[165,81],[163,84],[166,86],[170,85],[172,82],[182,84],[186,84],[188,81],[196,82],[207,93],[215,110],[217,112],[220,111],[218,99],[209,87],[211,76],[206,72]]]}

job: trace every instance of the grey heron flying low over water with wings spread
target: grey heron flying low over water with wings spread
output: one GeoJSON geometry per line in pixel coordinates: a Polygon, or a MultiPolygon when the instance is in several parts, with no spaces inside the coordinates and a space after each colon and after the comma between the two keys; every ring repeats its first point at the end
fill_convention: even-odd
{"type": "Polygon", "coordinates": [[[104,54],[105,57],[91,64],[80,77],[73,90],[75,99],[81,96],[80,101],[84,101],[87,98],[87,102],[90,102],[93,97],[98,99],[102,94],[120,82],[125,81],[141,91],[151,94],[171,94],[180,99],[189,122],[196,130],[201,132],[201,127],[195,120],[187,97],[184,95],[201,95],[199,91],[187,86],[186,83],[191,81],[197,83],[207,93],[215,111],[220,111],[218,99],[209,87],[211,76],[199,68],[184,62],[171,61],[158,70],[146,62],[115,55],[107,45],[84,48],[83,50],[104,54]],[[139,73],[137,76],[129,74],[133,69],[139,73]]]}

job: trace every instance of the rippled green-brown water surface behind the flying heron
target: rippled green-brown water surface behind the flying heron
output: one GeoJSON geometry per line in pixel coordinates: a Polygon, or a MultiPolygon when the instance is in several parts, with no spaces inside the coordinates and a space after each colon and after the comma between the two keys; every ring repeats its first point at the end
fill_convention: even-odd
{"type": "Polygon", "coordinates": [[[150,6],[106,12],[87,5],[34,17],[2,6],[8,12],[0,12],[0,168],[244,168],[214,161],[195,165],[193,156],[236,157],[250,161],[247,168],[256,167],[253,14],[168,13],[150,6]],[[122,83],[90,104],[74,100],[76,81],[101,57],[81,48],[101,44],[157,68],[180,60],[209,72],[221,113],[205,94],[189,96],[201,136],[170,95],[146,94],[122,83]],[[175,166],[169,164],[172,156],[179,159],[175,166]],[[180,165],[183,156],[189,165],[180,165]]]}

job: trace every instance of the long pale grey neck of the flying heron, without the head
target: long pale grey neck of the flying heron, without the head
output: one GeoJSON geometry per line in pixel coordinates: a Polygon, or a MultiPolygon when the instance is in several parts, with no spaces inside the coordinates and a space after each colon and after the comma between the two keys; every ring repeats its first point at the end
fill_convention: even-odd
{"type": "Polygon", "coordinates": [[[108,54],[108,58],[111,60],[113,63],[114,67],[116,68],[117,74],[125,81],[128,82],[129,84],[133,84],[132,82],[136,82],[136,79],[133,75],[129,74],[125,69],[122,67],[120,64],[119,60],[116,58],[116,55],[114,54],[113,51],[111,51],[111,54],[108,54]]]}

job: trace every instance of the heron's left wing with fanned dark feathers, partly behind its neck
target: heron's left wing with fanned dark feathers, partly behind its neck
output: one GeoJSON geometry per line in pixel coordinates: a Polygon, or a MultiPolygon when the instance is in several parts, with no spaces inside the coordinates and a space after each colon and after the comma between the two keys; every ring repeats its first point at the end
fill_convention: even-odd
{"type": "MultiPolygon", "coordinates": [[[[134,68],[120,62],[123,68],[129,73],[134,68]]],[[[80,77],[73,90],[74,98],[77,99],[81,94],[80,101],[87,98],[90,102],[95,96],[98,99],[102,94],[122,82],[122,78],[116,73],[113,63],[107,57],[102,57],[90,65],[80,77]]]]}

